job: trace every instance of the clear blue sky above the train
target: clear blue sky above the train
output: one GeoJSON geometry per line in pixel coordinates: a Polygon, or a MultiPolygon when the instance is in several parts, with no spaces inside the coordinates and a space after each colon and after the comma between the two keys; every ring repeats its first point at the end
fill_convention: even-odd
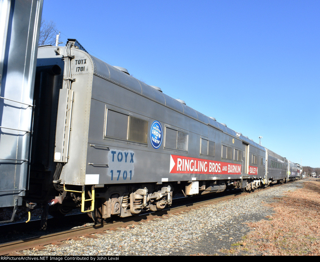
{"type": "MultiPolygon", "coordinates": [[[[61,42],[320,167],[320,1],[44,0],[61,42]]],[[[60,44],[63,45],[63,44],[60,44]]]]}

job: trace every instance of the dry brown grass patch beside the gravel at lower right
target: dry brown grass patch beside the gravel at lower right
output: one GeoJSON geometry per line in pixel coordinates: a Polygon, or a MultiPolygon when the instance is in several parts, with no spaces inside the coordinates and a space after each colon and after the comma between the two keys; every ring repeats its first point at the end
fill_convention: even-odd
{"type": "Polygon", "coordinates": [[[320,255],[320,181],[308,179],[302,189],[287,192],[271,205],[267,220],[248,223],[253,230],[230,250],[232,255],[320,255]]]}

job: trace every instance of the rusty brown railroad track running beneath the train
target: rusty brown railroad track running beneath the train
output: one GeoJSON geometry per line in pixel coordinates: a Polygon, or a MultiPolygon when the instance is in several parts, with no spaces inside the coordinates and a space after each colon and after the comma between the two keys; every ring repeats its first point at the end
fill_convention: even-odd
{"type": "MultiPolygon", "coordinates": [[[[266,188],[269,189],[270,187],[266,188]]],[[[260,190],[266,190],[266,189],[259,189],[255,190],[254,192],[260,191],[260,190]]],[[[29,237],[17,241],[12,241],[8,243],[2,243],[0,244],[0,255],[15,255],[18,253],[15,253],[20,250],[27,250],[31,248],[40,248],[44,245],[52,244],[52,243],[59,243],[61,241],[67,240],[67,239],[74,239],[80,236],[86,236],[86,237],[92,237],[91,234],[108,234],[104,231],[117,228],[117,227],[126,227],[130,224],[134,224],[141,221],[150,220],[153,218],[161,218],[164,217],[167,214],[172,213],[179,213],[186,210],[190,210],[199,206],[203,206],[206,204],[212,204],[216,202],[220,202],[223,200],[227,200],[230,198],[238,197],[240,195],[244,194],[250,194],[250,193],[243,193],[240,191],[237,192],[229,192],[228,195],[224,195],[221,197],[215,197],[203,200],[203,198],[199,201],[196,201],[194,203],[187,203],[179,206],[173,206],[170,209],[165,209],[159,212],[151,212],[151,213],[144,213],[137,217],[128,217],[119,221],[111,221],[109,223],[105,224],[92,224],[92,225],[86,225],[83,227],[76,227],[65,231],[60,232],[54,232],[49,234],[43,234],[43,235],[37,235],[34,237],[29,237]]],[[[251,193],[252,194],[252,193],[251,193]]]]}

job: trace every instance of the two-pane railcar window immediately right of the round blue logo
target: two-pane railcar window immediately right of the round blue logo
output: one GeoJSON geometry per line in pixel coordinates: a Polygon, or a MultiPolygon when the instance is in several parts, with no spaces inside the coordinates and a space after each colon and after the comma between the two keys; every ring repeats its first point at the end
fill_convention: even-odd
{"type": "Polygon", "coordinates": [[[188,134],[166,127],[164,147],[188,151],[188,134]]]}

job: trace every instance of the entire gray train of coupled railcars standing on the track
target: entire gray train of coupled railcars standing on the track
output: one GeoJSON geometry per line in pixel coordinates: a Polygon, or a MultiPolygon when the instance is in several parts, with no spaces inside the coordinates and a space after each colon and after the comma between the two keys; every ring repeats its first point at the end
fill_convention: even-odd
{"type": "MultiPolygon", "coordinates": [[[[16,25],[26,27],[16,32],[35,27],[17,10],[23,4],[7,17],[18,21],[11,38],[16,25]]],[[[39,47],[34,65],[31,51],[8,51],[2,71],[0,208],[13,207],[10,221],[18,206],[43,207],[43,225],[47,212],[81,207],[100,223],[161,210],[176,193],[250,191],[301,178],[300,165],[91,56],[75,39],[39,47]],[[23,74],[29,89],[15,84],[23,74]]]]}

